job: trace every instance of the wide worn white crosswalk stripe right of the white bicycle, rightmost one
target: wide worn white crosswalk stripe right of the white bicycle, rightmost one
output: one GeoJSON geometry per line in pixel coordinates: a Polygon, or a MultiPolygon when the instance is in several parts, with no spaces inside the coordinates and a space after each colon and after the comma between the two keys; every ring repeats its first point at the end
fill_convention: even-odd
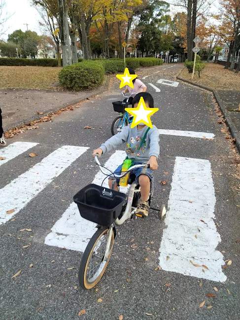
{"type": "Polygon", "coordinates": [[[221,241],[213,221],[215,202],[210,162],[176,157],[159,249],[163,270],[212,281],[227,279],[223,255],[215,250],[221,241]]]}

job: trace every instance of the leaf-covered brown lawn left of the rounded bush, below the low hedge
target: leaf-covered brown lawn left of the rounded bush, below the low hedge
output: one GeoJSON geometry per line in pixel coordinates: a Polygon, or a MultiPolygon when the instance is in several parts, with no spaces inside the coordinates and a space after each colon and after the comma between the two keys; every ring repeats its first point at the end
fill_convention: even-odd
{"type": "Polygon", "coordinates": [[[58,67],[0,66],[0,89],[47,89],[58,82],[58,67]]]}

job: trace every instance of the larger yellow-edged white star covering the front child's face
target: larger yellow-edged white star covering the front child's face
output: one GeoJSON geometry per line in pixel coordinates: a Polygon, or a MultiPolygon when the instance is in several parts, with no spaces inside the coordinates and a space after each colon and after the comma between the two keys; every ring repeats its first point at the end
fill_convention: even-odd
{"type": "Polygon", "coordinates": [[[143,98],[141,97],[137,108],[125,108],[125,110],[134,116],[131,128],[136,127],[140,122],[143,122],[146,126],[152,128],[150,115],[157,112],[159,109],[147,108],[143,98]]]}

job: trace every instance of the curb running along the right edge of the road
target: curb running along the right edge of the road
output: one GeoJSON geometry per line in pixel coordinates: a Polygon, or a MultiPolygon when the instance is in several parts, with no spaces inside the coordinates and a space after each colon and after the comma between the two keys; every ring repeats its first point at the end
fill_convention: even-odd
{"type": "Polygon", "coordinates": [[[234,139],[236,139],[236,146],[237,146],[237,149],[240,152],[240,133],[239,133],[238,129],[236,128],[235,124],[233,123],[233,121],[231,120],[231,118],[229,116],[229,111],[226,110],[226,108],[224,107],[223,103],[221,102],[221,99],[220,99],[217,91],[215,89],[210,88],[210,87],[203,86],[202,84],[197,84],[197,83],[194,83],[194,82],[192,82],[190,80],[180,78],[179,76],[177,76],[176,78],[178,80],[181,80],[183,82],[192,84],[192,85],[194,85],[196,87],[205,89],[205,90],[210,91],[210,92],[213,93],[213,96],[214,96],[214,98],[215,98],[220,110],[222,111],[222,113],[224,115],[224,118],[226,119],[226,124],[227,124],[227,126],[229,128],[229,131],[230,131],[232,137],[234,139]]]}

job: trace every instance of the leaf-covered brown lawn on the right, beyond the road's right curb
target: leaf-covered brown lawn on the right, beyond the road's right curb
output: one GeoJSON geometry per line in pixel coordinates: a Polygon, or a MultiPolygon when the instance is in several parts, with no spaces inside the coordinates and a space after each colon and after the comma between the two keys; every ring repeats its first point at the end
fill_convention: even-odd
{"type": "MultiPolygon", "coordinates": [[[[179,74],[181,78],[192,81],[192,73],[184,69],[179,74]]],[[[215,65],[212,62],[206,64],[204,71],[195,73],[193,81],[218,90],[240,90],[240,74],[224,69],[224,66],[215,65]]]]}

